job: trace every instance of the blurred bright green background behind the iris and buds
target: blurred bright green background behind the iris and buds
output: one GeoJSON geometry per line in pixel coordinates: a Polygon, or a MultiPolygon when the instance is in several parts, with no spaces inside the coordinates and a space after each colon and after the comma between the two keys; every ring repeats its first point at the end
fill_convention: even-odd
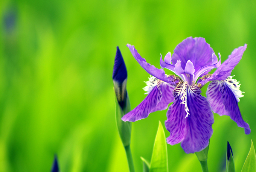
{"type": "MultiPolygon", "coordinates": [[[[214,114],[208,164],[223,171],[227,140],[241,171],[256,143],[256,1],[254,0],[1,0],[0,1],[0,171],[47,172],[57,154],[62,172],[127,172],[115,124],[112,70],[116,46],[128,70],[131,108],[146,95],[149,75],[127,43],[160,67],[160,53],[173,53],[187,37],[204,37],[222,62],[248,44],[232,75],[241,83],[245,135],[228,116],[214,114]]],[[[168,74],[172,74],[167,71],[168,74]]],[[[206,87],[203,87],[205,95],[206,87]]],[[[158,111],[133,123],[131,149],[150,160],[158,111]]],[[[166,137],[169,132],[166,131],[166,137]]],[[[200,172],[196,155],[168,145],[170,172],[200,172]]]]}

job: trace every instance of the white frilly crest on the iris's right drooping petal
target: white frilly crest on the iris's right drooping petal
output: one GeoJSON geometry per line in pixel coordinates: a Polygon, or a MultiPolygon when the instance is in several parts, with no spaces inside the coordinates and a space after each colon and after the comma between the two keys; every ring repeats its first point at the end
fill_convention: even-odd
{"type": "MultiPolygon", "coordinates": [[[[235,75],[234,75],[235,76],[235,75]]],[[[242,92],[240,90],[240,85],[239,84],[239,81],[236,81],[236,79],[233,79],[233,76],[229,76],[229,78],[227,78],[225,80],[225,83],[229,86],[229,88],[232,90],[232,92],[234,93],[235,97],[236,97],[236,100],[237,102],[240,101],[240,97],[244,97],[244,95],[242,95],[242,92]]]]}

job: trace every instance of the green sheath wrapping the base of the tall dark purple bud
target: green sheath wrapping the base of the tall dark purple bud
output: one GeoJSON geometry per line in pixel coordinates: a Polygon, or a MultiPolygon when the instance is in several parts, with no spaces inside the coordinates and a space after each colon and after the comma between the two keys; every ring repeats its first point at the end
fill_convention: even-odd
{"type": "Polygon", "coordinates": [[[122,110],[116,99],[116,125],[124,147],[129,146],[131,143],[131,122],[124,122],[121,118],[130,111],[131,106],[128,94],[126,97],[126,106],[124,110],[122,110]]]}

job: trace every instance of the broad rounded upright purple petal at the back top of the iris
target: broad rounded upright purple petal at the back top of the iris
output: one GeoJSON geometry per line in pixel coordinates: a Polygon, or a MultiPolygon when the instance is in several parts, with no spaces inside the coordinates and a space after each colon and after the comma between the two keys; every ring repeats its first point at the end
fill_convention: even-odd
{"type": "Polygon", "coordinates": [[[175,65],[180,60],[181,67],[185,68],[187,61],[190,60],[197,72],[200,68],[212,64],[212,53],[213,49],[204,38],[189,37],[175,47],[172,64],[175,65]]]}

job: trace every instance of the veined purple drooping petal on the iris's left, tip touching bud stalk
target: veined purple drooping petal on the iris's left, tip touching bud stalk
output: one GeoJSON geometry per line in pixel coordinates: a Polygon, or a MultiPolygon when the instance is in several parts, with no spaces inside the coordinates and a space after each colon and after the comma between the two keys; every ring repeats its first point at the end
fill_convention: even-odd
{"type": "Polygon", "coordinates": [[[157,85],[149,92],[148,96],[132,111],[122,117],[123,121],[135,122],[144,119],[152,112],[165,110],[174,100],[172,91],[174,86],[158,80],[157,85]]]}

